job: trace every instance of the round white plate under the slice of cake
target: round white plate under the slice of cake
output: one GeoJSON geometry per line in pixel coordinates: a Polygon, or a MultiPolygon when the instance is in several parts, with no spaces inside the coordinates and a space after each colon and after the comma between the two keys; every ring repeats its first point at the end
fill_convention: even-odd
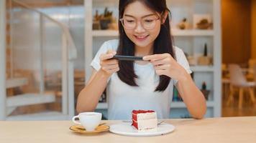
{"type": "Polygon", "coordinates": [[[120,123],[111,125],[109,131],[125,136],[157,136],[173,132],[174,129],[175,127],[172,124],[162,123],[155,130],[140,132],[132,127],[131,123],[120,123]]]}

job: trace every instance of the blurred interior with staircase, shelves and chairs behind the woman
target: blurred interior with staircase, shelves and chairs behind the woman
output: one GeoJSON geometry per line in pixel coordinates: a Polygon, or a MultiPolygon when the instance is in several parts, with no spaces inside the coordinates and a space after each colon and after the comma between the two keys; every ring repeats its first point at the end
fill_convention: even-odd
{"type": "MultiPolygon", "coordinates": [[[[65,120],[118,0],[0,0],[0,120],[65,120]]],[[[256,115],[256,0],[167,0],[175,46],[207,100],[206,117],[256,115]]],[[[116,85],[118,88],[118,85],[116,85]]],[[[107,119],[104,92],[96,112],[107,119]]],[[[177,89],[170,118],[191,118],[177,89]]]]}

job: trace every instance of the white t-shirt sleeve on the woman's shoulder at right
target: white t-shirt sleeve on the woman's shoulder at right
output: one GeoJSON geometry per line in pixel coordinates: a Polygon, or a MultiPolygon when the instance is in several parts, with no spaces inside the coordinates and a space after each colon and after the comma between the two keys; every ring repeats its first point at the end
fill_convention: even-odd
{"type": "MultiPolygon", "coordinates": [[[[175,54],[176,54],[176,60],[178,62],[178,64],[180,64],[181,66],[183,66],[183,68],[188,72],[188,74],[191,74],[191,68],[188,64],[188,60],[186,59],[186,56],[184,54],[184,52],[182,51],[182,49],[178,48],[177,46],[175,47],[175,54]]],[[[173,84],[177,84],[177,80],[173,79],[173,84]]]]}

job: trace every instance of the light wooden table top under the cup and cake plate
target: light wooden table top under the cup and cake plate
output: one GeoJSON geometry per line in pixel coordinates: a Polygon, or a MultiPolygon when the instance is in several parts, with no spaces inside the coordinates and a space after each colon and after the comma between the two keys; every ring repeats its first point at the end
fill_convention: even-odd
{"type": "MultiPolygon", "coordinates": [[[[104,122],[115,124],[121,121],[104,122]]],[[[256,117],[170,119],[166,122],[175,125],[175,131],[157,137],[125,137],[110,132],[94,135],[75,134],[68,129],[73,125],[69,121],[0,122],[0,142],[256,142],[256,117]]]]}

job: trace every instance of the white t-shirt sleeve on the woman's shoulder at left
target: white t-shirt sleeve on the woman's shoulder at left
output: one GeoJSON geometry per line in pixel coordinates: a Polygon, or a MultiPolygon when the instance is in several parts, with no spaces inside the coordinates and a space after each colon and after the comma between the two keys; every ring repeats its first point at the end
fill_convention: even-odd
{"type": "Polygon", "coordinates": [[[96,71],[99,71],[99,69],[101,69],[100,59],[99,59],[101,54],[106,54],[106,52],[109,49],[116,51],[117,46],[118,46],[117,40],[105,41],[104,44],[101,45],[97,54],[94,56],[93,61],[91,61],[91,66],[93,67],[93,69],[96,69],[96,71]]]}

